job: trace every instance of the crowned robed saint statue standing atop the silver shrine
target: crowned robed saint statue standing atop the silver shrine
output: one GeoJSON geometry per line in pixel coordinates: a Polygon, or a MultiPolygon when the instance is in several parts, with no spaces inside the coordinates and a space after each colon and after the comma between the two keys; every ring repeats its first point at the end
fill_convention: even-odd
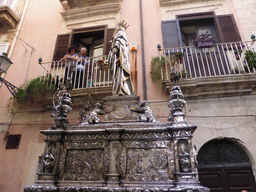
{"type": "Polygon", "coordinates": [[[131,80],[129,63],[129,43],[125,34],[127,23],[119,22],[113,34],[111,51],[108,63],[113,74],[112,95],[133,95],[134,89],[131,80]]]}

